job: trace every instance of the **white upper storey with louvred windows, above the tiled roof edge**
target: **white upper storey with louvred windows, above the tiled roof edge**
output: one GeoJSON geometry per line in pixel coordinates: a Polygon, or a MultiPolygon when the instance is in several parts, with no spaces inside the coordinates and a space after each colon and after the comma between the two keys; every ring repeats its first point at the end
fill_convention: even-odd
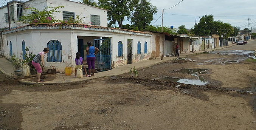
{"type": "MultiPolygon", "coordinates": [[[[9,16],[11,21],[11,28],[17,26],[23,26],[19,20],[21,16],[26,14],[31,14],[28,8],[37,8],[42,11],[46,7],[56,7],[65,6],[64,8],[59,8],[54,15],[56,19],[68,20],[70,17],[83,18],[85,23],[97,26],[107,26],[107,10],[98,8],[95,6],[85,5],[78,2],[73,2],[69,0],[28,0],[26,2],[12,0],[9,2],[9,16]]],[[[51,10],[48,8],[47,10],[51,10]]],[[[7,5],[0,7],[0,28],[8,28],[8,9],[7,5]]]]}

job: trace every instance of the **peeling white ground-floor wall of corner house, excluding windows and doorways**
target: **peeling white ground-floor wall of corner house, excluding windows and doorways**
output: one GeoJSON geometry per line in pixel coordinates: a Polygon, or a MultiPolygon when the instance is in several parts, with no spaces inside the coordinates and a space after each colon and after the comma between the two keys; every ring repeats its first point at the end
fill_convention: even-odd
{"type": "MultiPolygon", "coordinates": [[[[22,41],[25,41],[26,46],[30,46],[30,51],[34,54],[39,53],[43,48],[47,47],[50,40],[59,40],[62,44],[62,62],[47,62],[47,55],[45,56],[45,70],[54,69],[58,72],[64,72],[65,67],[73,67],[74,58],[78,51],[78,37],[91,37],[90,40],[99,37],[111,37],[112,43],[112,64],[114,67],[127,64],[127,39],[133,39],[133,62],[141,60],[148,60],[150,56],[150,34],[140,34],[134,32],[119,31],[119,33],[111,31],[93,31],[88,28],[81,29],[43,29],[44,27],[34,27],[34,29],[26,29],[24,31],[12,32],[5,34],[4,39],[8,42],[12,41],[13,55],[22,59],[22,41]],[[35,29],[37,28],[37,29],[35,29]],[[123,56],[118,57],[118,42],[123,42],[123,56]],[[141,54],[137,54],[137,43],[141,42],[141,54]],[[147,42],[147,54],[144,54],[144,42],[147,42]]],[[[5,50],[5,56],[9,56],[9,46],[5,50]]]]}

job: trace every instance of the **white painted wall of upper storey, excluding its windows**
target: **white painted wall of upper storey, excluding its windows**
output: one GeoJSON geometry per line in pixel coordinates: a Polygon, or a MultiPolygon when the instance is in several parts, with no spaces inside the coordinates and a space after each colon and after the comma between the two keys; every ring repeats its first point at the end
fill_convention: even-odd
{"type": "MultiPolygon", "coordinates": [[[[14,5],[14,22],[11,22],[11,27],[17,27],[17,26],[23,26],[26,24],[20,23],[17,21],[17,4],[23,5],[23,14],[31,14],[32,11],[30,11],[27,8],[33,7],[37,8],[39,11],[42,11],[47,6],[55,7],[55,6],[63,6],[64,8],[58,9],[58,11],[55,14],[56,19],[62,20],[62,11],[69,11],[74,12],[75,16],[79,15],[79,18],[83,18],[84,22],[86,24],[90,25],[90,16],[92,15],[99,15],[100,16],[100,26],[107,26],[107,10],[102,8],[97,8],[90,5],[81,4],[78,2],[68,1],[68,0],[30,0],[25,3],[17,3],[13,2],[10,5],[14,5]],[[33,3],[32,3],[33,2],[33,3]]],[[[48,10],[50,10],[49,8],[48,10]]],[[[8,28],[8,23],[5,22],[5,13],[7,13],[7,6],[0,8],[0,28],[8,28]]]]}

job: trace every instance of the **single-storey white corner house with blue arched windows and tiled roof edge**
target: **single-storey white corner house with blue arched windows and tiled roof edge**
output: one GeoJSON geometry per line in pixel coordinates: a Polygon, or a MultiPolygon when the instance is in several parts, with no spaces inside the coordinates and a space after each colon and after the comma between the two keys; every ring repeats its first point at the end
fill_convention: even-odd
{"type": "Polygon", "coordinates": [[[128,63],[128,45],[132,51],[131,62],[148,60],[151,36],[146,32],[92,25],[67,25],[62,29],[55,24],[27,25],[3,32],[3,55],[23,59],[25,46],[30,46],[34,54],[48,47],[45,68],[64,72],[65,67],[75,66],[76,52],[83,53],[84,45],[92,41],[100,50],[96,68],[110,70],[128,63]]]}

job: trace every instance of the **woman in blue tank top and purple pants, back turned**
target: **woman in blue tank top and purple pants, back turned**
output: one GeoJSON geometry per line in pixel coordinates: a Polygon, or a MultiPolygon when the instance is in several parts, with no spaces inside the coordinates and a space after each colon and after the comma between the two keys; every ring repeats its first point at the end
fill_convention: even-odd
{"type": "Polygon", "coordinates": [[[95,55],[98,53],[99,49],[92,46],[92,42],[87,42],[86,47],[86,61],[88,65],[88,75],[91,75],[91,68],[92,68],[92,76],[94,76],[95,70],[95,55]]]}

